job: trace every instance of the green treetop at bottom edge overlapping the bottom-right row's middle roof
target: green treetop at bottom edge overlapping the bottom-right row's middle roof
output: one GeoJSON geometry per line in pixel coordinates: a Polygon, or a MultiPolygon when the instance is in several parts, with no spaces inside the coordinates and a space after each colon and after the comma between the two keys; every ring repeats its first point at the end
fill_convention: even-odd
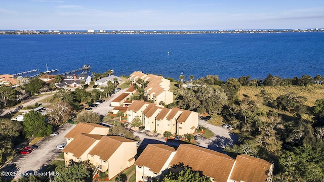
{"type": "Polygon", "coordinates": [[[165,175],[163,178],[160,178],[159,181],[161,182],[205,182],[212,180],[204,175],[200,175],[198,171],[193,171],[189,167],[185,167],[179,173],[170,172],[169,174],[165,175]]]}

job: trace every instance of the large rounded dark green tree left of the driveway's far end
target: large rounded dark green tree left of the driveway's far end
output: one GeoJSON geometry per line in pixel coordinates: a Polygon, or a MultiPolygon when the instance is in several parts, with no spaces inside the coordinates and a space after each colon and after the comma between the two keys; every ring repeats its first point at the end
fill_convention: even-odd
{"type": "Polygon", "coordinates": [[[52,125],[46,123],[46,116],[34,110],[24,115],[23,126],[27,138],[31,136],[42,137],[48,136],[52,132],[52,125]]]}

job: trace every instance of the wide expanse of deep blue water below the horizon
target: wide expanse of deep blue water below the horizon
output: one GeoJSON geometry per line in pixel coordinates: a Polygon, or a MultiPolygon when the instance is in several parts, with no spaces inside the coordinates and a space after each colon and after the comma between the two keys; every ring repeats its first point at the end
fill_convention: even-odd
{"type": "Polygon", "coordinates": [[[0,35],[0,74],[46,71],[46,64],[56,73],[90,64],[95,73],[178,79],[183,72],[186,80],[323,76],[324,33],[0,35]]]}

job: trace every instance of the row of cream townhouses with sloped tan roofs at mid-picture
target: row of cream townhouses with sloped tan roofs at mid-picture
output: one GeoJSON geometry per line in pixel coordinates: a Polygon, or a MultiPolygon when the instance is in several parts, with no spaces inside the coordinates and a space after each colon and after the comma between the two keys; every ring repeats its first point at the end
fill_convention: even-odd
{"type": "Polygon", "coordinates": [[[198,113],[179,108],[167,109],[159,105],[133,101],[127,109],[128,122],[140,118],[146,130],[164,133],[170,131],[180,135],[193,133],[198,126],[198,113]]]}

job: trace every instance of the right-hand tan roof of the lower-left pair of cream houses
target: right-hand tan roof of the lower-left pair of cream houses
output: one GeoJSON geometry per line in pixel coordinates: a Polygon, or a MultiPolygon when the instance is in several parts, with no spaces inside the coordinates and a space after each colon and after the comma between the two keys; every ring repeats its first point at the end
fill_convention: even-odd
{"type": "Polygon", "coordinates": [[[123,144],[123,142],[136,143],[136,141],[125,139],[121,136],[103,136],[100,142],[89,152],[89,154],[97,155],[100,159],[107,161],[120,145],[123,144]]]}

